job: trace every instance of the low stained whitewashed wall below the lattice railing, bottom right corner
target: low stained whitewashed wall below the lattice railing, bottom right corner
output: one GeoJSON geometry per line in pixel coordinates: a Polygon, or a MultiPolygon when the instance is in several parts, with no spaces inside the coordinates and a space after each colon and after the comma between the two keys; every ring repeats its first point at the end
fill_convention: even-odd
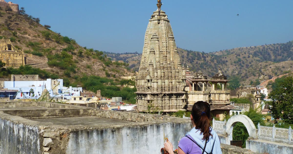
{"type": "Polygon", "coordinates": [[[263,153],[293,153],[293,145],[263,140],[246,140],[246,148],[263,153]]]}

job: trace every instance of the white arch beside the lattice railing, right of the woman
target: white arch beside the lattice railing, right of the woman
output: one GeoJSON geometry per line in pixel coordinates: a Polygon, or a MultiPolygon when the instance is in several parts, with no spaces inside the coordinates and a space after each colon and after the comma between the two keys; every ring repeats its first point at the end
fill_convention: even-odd
{"type": "Polygon", "coordinates": [[[255,128],[252,120],[246,115],[238,114],[235,116],[231,116],[231,118],[229,118],[226,123],[226,133],[228,134],[228,138],[230,141],[232,140],[233,127],[237,122],[241,122],[244,124],[248,131],[249,137],[257,138],[258,130],[255,128]]]}

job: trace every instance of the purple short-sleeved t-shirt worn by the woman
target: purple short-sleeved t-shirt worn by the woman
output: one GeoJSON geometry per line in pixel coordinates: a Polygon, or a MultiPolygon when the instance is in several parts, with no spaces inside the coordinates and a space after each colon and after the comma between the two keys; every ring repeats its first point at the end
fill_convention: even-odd
{"type": "MultiPolygon", "coordinates": [[[[191,138],[191,136],[188,135],[191,138]]],[[[196,145],[189,138],[184,136],[178,143],[178,147],[186,154],[202,154],[202,151],[198,145],[196,145]]]]}

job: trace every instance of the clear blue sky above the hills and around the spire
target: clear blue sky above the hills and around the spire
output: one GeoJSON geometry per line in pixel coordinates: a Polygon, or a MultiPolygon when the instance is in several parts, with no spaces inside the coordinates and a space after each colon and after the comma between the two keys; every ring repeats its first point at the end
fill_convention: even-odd
{"type": "MultiPolygon", "coordinates": [[[[81,46],[142,52],[156,0],[11,0],[81,46]]],[[[162,0],[180,48],[212,52],[293,40],[292,0],[162,0]],[[236,16],[239,14],[239,16],[236,16]]]]}

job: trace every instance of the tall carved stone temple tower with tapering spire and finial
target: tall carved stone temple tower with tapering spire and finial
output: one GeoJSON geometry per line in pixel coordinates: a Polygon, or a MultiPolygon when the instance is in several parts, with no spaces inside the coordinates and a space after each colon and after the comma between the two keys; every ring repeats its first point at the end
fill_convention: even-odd
{"type": "Polygon", "coordinates": [[[142,59],[135,78],[139,111],[185,110],[185,72],[170,21],[161,10],[161,5],[161,0],[158,0],[158,9],[149,19],[142,59]]]}

